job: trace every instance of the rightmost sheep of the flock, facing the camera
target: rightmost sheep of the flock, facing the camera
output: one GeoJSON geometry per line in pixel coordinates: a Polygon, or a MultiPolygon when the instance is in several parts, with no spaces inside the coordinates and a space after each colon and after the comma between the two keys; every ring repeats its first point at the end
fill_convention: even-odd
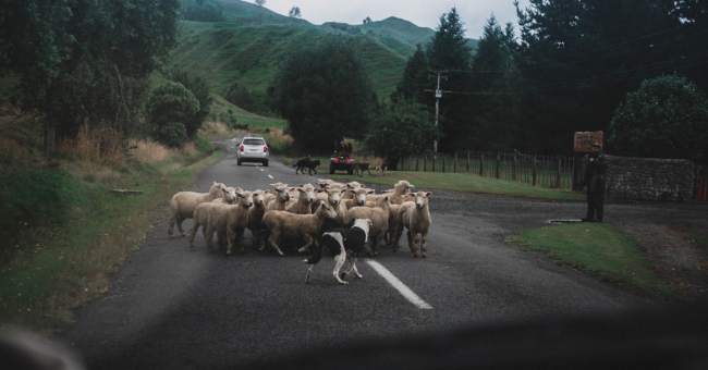
{"type": "Polygon", "coordinates": [[[430,210],[428,209],[428,197],[432,193],[418,192],[415,194],[414,201],[406,201],[399,209],[399,224],[393,240],[393,250],[398,250],[403,227],[407,229],[408,247],[413,257],[418,257],[418,243],[420,244],[420,257],[426,258],[428,240],[428,231],[432,221],[430,210]],[[418,239],[418,234],[420,238],[418,239]]]}

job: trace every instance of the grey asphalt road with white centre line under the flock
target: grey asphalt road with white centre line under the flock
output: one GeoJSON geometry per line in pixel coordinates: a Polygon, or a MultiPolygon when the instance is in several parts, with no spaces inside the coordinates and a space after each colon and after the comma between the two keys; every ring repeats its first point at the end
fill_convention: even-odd
{"type": "MultiPolygon", "coordinates": [[[[298,186],[318,178],[295,175],[277,158],[268,168],[237,166],[239,141],[220,143],[228,152],[199,173],[188,190],[208,192],[215,181],[271,189],[276,182],[298,186]]],[[[320,169],[324,177],[326,165],[320,169]]],[[[210,252],[200,233],[191,251],[186,237],[168,237],[164,219],[111,276],[105,298],[76,310],[75,322],[56,340],[90,369],[213,369],[332,343],[395,341],[471,325],[622,313],[655,305],[504,245],[503,237],[518,230],[542,226],[552,218],[579,218],[584,203],[431,192],[428,258],[412,258],[404,236],[398,252],[381,247],[379,257],[361,259],[364,279],[351,275],[350,285],[337,284],[328,257],[317,264],[312,284],[305,284],[308,264],[303,259],[309,255],[260,252],[251,248],[248,232],[245,255],[210,252]],[[427,308],[402,294],[369,261],[388,270],[399,287],[407,287],[427,308]]],[[[642,212],[632,206],[618,209],[622,207],[642,212]]],[[[611,221],[612,208],[607,214],[611,221]]],[[[192,220],[184,222],[187,232],[191,225],[192,220]]]]}

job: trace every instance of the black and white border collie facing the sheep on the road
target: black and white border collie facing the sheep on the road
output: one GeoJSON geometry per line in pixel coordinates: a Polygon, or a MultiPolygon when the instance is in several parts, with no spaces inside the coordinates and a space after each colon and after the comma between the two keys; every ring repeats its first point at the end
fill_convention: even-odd
{"type": "Polygon", "coordinates": [[[340,279],[339,270],[342,269],[344,260],[349,257],[350,268],[342,272],[342,278],[346,278],[346,274],[351,271],[354,271],[356,278],[362,279],[362,274],[356,270],[356,258],[359,254],[364,251],[364,245],[369,235],[369,226],[373,225],[371,220],[369,219],[354,219],[354,226],[352,229],[330,229],[319,240],[317,246],[317,252],[315,256],[306,259],[305,262],[312,264],[307,270],[307,279],[305,284],[309,283],[309,278],[313,274],[313,269],[315,264],[322,259],[322,254],[325,249],[329,250],[330,255],[334,256],[334,271],[332,275],[340,284],[349,284],[347,282],[340,279]]]}

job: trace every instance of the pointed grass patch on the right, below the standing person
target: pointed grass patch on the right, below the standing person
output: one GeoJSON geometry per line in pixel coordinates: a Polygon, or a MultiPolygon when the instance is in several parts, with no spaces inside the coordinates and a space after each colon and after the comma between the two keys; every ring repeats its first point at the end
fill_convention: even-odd
{"type": "Polygon", "coordinates": [[[608,224],[579,223],[530,229],[506,237],[506,242],[646,296],[659,299],[679,297],[655,275],[654,264],[642,246],[608,224]]]}

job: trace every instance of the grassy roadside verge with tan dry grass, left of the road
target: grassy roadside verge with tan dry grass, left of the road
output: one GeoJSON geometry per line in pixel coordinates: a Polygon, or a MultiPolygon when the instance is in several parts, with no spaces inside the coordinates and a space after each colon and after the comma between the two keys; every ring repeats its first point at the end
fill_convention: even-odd
{"type": "MultiPolygon", "coordinates": [[[[202,141],[195,146],[205,146],[202,141]]],[[[0,330],[22,326],[51,334],[71,322],[72,309],[105,293],[110,273],[168,215],[171,196],[223,153],[222,148],[210,150],[209,145],[206,156],[183,151],[159,162],[133,158],[113,168],[63,161],[58,172],[73,178],[82,201],[69,206],[68,219],[34,227],[23,222],[16,226],[27,230],[5,234],[11,238],[3,239],[2,252],[11,258],[0,263],[0,330]],[[144,193],[112,193],[117,187],[144,193]]]]}

